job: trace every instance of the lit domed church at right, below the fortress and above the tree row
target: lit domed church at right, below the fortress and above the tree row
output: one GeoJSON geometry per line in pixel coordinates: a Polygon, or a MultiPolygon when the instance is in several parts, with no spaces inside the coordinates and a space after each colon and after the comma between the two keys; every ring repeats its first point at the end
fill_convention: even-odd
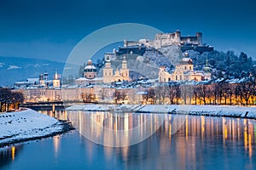
{"type": "Polygon", "coordinates": [[[188,57],[188,54],[185,54],[185,57],[181,59],[180,64],[176,65],[175,71],[167,72],[164,66],[161,66],[159,71],[159,82],[201,82],[210,79],[211,73],[209,72],[209,66],[206,64],[204,71],[194,71],[193,61],[188,57]]]}

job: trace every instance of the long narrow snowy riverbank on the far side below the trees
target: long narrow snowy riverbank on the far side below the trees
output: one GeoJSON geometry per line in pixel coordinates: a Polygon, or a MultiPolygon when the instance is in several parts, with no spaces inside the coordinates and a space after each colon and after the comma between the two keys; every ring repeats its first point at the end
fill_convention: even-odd
{"type": "Polygon", "coordinates": [[[256,119],[256,107],[233,105],[72,105],[67,111],[116,111],[196,116],[230,116],[256,119]]]}

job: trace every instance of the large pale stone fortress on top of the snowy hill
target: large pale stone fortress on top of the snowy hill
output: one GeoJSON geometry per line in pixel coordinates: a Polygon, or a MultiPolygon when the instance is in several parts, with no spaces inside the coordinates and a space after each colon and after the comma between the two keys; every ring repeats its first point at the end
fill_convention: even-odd
{"type": "Polygon", "coordinates": [[[105,60],[116,59],[117,56],[123,54],[138,54],[143,55],[146,48],[166,48],[172,45],[180,47],[182,52],[187,50],[195,50],[199,53],[213,51],[213,47],[202,42],[202,33],[196,32],[195,36],[181,36],[180,31],[172,33],[158,33],[154,36],[154,40],[147,38],[139,39],[138,41],[124,40],[124,47],[119,47],[118,50],[113,49],[113,53],[105,53],[105,60]]]}

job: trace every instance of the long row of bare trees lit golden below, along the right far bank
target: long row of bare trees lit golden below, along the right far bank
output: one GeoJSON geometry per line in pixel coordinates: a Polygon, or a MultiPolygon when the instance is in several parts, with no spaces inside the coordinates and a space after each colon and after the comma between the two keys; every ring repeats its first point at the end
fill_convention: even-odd
{"type": "Polygon", "coordinates": [[[163,83],[157,87],[148,88],[145,92],[143,101],[149,105],[256,105],[254,81],[199,85],[163,83]]]}

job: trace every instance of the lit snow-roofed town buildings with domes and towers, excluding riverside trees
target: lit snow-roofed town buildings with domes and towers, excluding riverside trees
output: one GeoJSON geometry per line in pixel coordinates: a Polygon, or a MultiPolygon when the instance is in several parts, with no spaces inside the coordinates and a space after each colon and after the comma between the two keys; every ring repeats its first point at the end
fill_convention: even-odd
{"type": "Polygon", "coordinates": [[[209,67],[205,71],[194,71],[192,59],[185,54],[175,71],[166,71],[165,67],[159,68],[159,78],[146,82],[132,81],[130,69],[125,59],[119,65],[112,65],[112,60],[107,60],[102,68],[102,77],[98,75],[96,67],[91,60],[84,66],[82,77],[76,79],[73,85],[62,85],[61,77],[55,72],[54,78],[49,80],[48,73],[41,74],[38,78],[27,79],[26,82],[16,82],[15,87],[22,91],[26,101],[60,101],[84,100],[88,102],[117,102],[142,103],[146,88],[152,88],[155,83],[162,82],[201,82],[211,79],[209,67]]]}

